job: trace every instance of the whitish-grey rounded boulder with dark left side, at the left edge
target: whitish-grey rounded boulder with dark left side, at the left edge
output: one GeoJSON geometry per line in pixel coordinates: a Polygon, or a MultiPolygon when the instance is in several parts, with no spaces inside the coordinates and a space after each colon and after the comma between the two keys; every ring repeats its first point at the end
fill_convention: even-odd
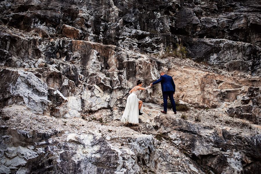
{"type": "Polygon", "coordinates": [[[24,104],[34,113],[48,112],[48,87],[31,72],[1,69],[0,101],[3,106],[13,103],[24,104]]]}

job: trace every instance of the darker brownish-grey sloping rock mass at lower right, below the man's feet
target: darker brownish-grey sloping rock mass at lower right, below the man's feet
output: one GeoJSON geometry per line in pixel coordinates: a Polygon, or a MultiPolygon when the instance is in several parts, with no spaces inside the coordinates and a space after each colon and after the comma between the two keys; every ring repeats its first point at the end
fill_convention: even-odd
{"type": "Polygon", "coordinates": [[[183,148],[187,155],[199,160],[203,166],[211,168],[214,173],[249,173],[250,168],[255,171],[260,166],[260,135],[239,135],[226,127],[198,127],[199,125],[182,119],[164,116],[156,117],[155,122],[164,136],[183,148]],[[251,148],[244,147],[243,144],[248,144],[251,148]],[[223,164],[221,168],[217,165],[220,163],[223,164]],[[248,164],[252,167],[248,167],[248,164]]]}

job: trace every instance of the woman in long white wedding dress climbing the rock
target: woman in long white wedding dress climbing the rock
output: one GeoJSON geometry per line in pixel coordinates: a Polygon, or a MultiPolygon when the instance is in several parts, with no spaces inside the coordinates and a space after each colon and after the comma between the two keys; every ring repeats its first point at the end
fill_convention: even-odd
{"type": "Polygon", "coordinates": [[[130,95],[127,98],[126,107],[122,115],[121,123],[139,123],[139,115],[142,115],[142,101],[138,99],[137,95],[140,93],[140,90],[147,90],[151,88],[152,84],[146,88],[142,88],[142,81],[137,81],[137,86],[134,86],[130,90],[130,95]]]}

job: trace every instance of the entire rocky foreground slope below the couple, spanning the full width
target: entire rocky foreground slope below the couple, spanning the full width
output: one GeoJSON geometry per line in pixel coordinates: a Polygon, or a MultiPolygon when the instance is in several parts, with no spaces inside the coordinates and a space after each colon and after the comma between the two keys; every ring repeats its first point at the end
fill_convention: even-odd
{"type": "MultiPolygon", "coordinates": [[[[90,114],[85,119],[61,119],[35,115],[18,105],[7,107],[3,114],[10,119],[1,120],[5,125],[1,126],[1,171],[251,173],[259,168],[261,142],[256,131],[260,132],[260,127],[250,123],[248,126],[253,126],[252,129],[240,126],[242,122],[236,118],[225,127],[212,126],[208,123],[211,118],[202,114],[204,123],[195,123],[173,112],[162,115],[157,107],[161,108],[145,104],[140,126],[131,129],[110,119],[108,110],[90,114]],[[86,121],[88,118],[93,121],[86,121]]],[[[220,111],[207,112],[218,115],[220,111]]],[[[187,114],[192,119],[195,115],[187,114]]]]}

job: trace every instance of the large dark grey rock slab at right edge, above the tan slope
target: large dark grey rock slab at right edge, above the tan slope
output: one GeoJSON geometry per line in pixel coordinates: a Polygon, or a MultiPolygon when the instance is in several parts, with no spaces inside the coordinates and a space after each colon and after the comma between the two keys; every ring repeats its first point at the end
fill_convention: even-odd
{"type": "Polygon", "coordinates": [[[226,39],[184,38],[183,41],[195,61],[225,66],[228,71],[246,75],[256,75],[260,71],[260,48],[255,45],[226,39]]]}

